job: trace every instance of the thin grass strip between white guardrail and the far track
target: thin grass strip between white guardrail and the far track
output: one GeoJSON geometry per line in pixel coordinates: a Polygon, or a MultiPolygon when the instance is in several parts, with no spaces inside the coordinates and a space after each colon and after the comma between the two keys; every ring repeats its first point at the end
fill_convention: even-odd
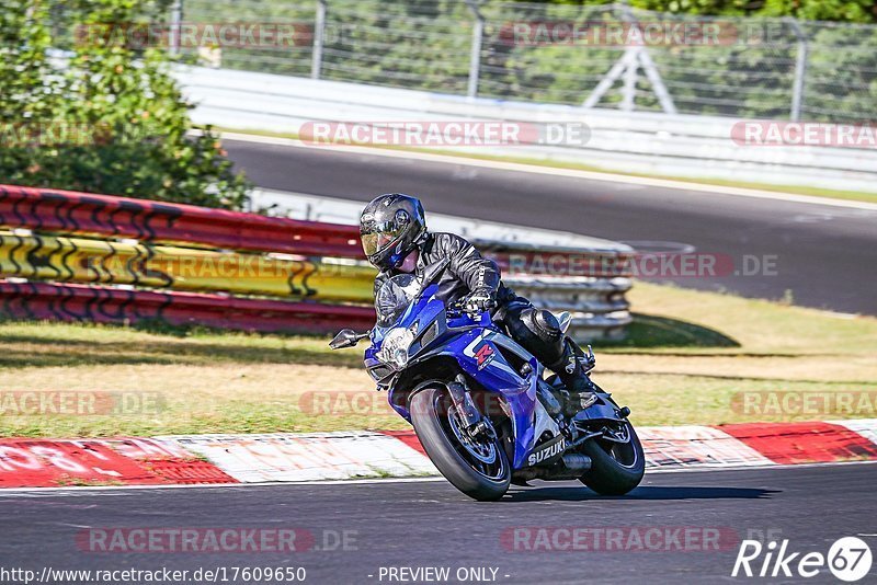
{"type": "MultiPolygon", "coordinates": [[[[265,130],[237,130],[231,128],[217,128],[219,131],[228,131],[228,133],[237,133],[237,134],[251,134],[255,136],[269,136],[274,138],[292,138],[297,139],[298,135],[295,133],[272,133],[265,130]]],[[[546,161],[542,159],[534,159],[527,157],[515,157],[515,156],[508,156],[508,157],[498,157],[494,154],[482,154],[478,152],[459,152],[456,150],[445,150],[438,148],[414,148],[414,147],[402,147],[402,146],[391,146],[391,145],[363,145],[367,146],[368,148],[385,148],[388,150],[401,150],[407,152],[428,152],[432,154],[442,154],[446,157],[457,157],[457,158],[466,158],[466,159],[475,159],[475,160],[485,160],[485,161],[499,161],[499,162],[515,162],[520,164],[529,164],[534,167],[543,167],[543,168],[550,168],[550,169],[568,169],[573,171],[590,171],[590,172],[599,172],[599,173],[611,173],[617,174],[623,176],[637,176],[637,177],[645,177],[645,179],[663,179],[669,181],[680,181],[683,183],[692,183],[692,184],[701,184],[701,185],[717,185],[717,186],[726,186],[726,187],[741,187],[741,188],[752,188],[759,191],[768,191],[773,193],[790,193],[795,195],[810,195],[813,197],[828,197],[832,199],[845,199],[845,200],[855,200],[855,202],[865,202],[865,203],[877,203],[877,193],[868,193],[868,192],[861,192],[861,191],[841,191],[841,190],[831,190],[831,188],[822,188],[822,187],[813,187],[809,185],[774,185],[770,183],[758,183],[753,181],[728,181],[724,179],[692,179],[686,176],[675,176],[672,174],[654,174],[654,173],[633,173],[626,171],[617,171],[612,169],[606,169],[603,167],[597,167],[593,164],[584,164],[584,163],[577,163],[577,162],[561,162],[561,161],[546,161]]],[[[321,147],[324,148],[324,147],[321,147]]]]}

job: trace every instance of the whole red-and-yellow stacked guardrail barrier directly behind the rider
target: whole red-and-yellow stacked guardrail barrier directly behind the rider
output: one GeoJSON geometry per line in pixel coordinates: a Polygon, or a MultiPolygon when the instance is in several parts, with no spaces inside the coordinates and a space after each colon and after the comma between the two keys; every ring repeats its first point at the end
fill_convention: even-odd
{"type": "MultiPolygon", "coordinates": [[[[219,290],[236,295],[258,295],[288,298],[303,291],[308,298],[340,300],[341,302],[367,302],[371,300],[371,274],[341,263],[321,263],[320,257],[363,260],[358,228],[340,223],[301,221],[287,218],[264,217],[255,214],[227,211],[162,203],[129,197],[93,195],[71,191],[0,185],[0,226],[26,228],[36,233],[32,238],[11,234],[8,240],[8,260],[0,266],[7,277],[29,278],[37,282],[61,280],[91,284],[117,283],[158,289],[219,290]],[[91,236],[103,239],[128,238],[143,244],[172,243],[184,248],[213,248],[217,260],[236,260],[229,250],[241,252],[282,253],[310,256],[305,264],[335,264],[338,278],[332,279],[332,294],[323,294],[331,287],[323,283],[320,295],[316,284],[318,274],[293,271],[300,274],[301,283],[284,277],[280,283],[261,279],[258,287],[229,286],[228,279],[168,277],[146,279],[130,269],[138,262],[156,260],[157,246],[110,243],[104,260],[118,260],[125,265],[123,278],[106,278],[100,273],[88,277],[75,274],[75,267],[90,262],[82,255],[88,245],[70,242],[69,250],[61,250],[59,238],[47,233],[91,236]],[[36,245],[25,249],[26,242],[36,245]],[[127,246],[127,248],[125,248],[127,246]],[[119,250],[129,254],[122,257],[119,250]],[[155,248],[155,250],[153,250],[155,248]],[[21,257],[25,256],[25,257],[21,257]],[[82,256],[82,257],[79,257],[82,256]],[[71,266],[68,261],[79,259],[71,266]],[[358,276],[357,276],[358,275],[358,276]],[[75,277],[76,276],[76,277],[75,277]],[[357,279],[358,278],[358,279],[357,279]],[[307,283],[305,283],[307,280],[307,283]],[[181,284],[182,283],[182,284],[181,284]],[[288,285],[288,286],[287,286],[288,285]],[[364,285],[368,285],[365,287],[364,285]],[[288,291],[287,291],[288,288],[288,291]]],[[[2,243],[2,242],[0,242],[2,243]]],[[[542,299],[538,302],[553,310],[572,313],[571,334],[578,341],[615,339],[624,335],[630,321],[625,291],[630,287],[627,276],[633,274],[633,252],[619,246],[574,248],[535,245],[522,242],[475,240],[485,255],[493,257],[503,269],[506,282],[521,286],[527,296],[542,299]],[[531,278],[524,280],[522,277],[531,278]],[[538,277],[538,278],[536,278],[538,277]],[[544,277],[544,278],[543,278],[544,277]],[[619,278],[620,277],[620,278],[619,278]],[[515,280],[516,278],[516,280],[515,280]],[[534,279],[535,278],[535,279],[534,279]]],[[[101,242],[107,248],[107,242],[101,242]]],[[[91,246],[94,248],[94,246],[91,246]]],[[[101,248],[101,246],[98,246],[101,248]]],[[[3,252],[3,250],[0,250],[3,252]]],[[[169,263],[178,262],[181,269],[190,255],[205,254],[201,251],[170,251],[169,263]]],[[[205,259],[205,264],[206,264],[205,259]]],[[[213,257],[210,260],[214,260],[213,257]]],[[[252,260],[252,259],[251,259],[252,260]]],[[[271,259],[275,262],[299,262],[301,259],[271,259]]],[[[163,259],[162,259],[163,261],[163,259]]],[[[118,264],[118,263],[117,263],[118,264]]],[[[350,263],[349,263],[350,264],[350,263]]],[[[109,269],[106,272],[110,272],[109,269]]],[[[160,271],[152,271],[152,276],[160,271]]],[[[208,273],[212,274],[212,273],[208,273]]],[[[203,275],[202,275],[203,276],[203,275]]],[[[328,306],[315,302],[289,302],[219,295],[182,292],[133,292],[114,288],[89,288],[67,286],[39,288],[49,285],[14,285],[0,291],[10,317],[61,319],[68,321],[94,320],[99,322],[137,322],[145,319],[163,320],[172,324],[201,323],[217,328],[243,329],[263,332],[327,332],[339,325],[371,326],[374,313],[371,308],[328,306]],[[49,291],[58,298],[49,298],[49,291]],[[21,296],[21,298],[15,298],[21,296]]],[[[364,328],[364,329],[365,329],[364,328]]]]}

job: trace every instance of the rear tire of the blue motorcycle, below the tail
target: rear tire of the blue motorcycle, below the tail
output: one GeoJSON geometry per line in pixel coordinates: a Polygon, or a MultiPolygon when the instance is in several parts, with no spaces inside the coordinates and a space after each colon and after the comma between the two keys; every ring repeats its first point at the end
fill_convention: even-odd
{"type": "Polygon", "coordinates": [[[601,495],[624,495],[634,490],[646,473],[646,456],[634,425],[625,421],[628,444],[605,439],[586,440],[582,454],[591,458],[591,469],[580,481],[601,495]]]}

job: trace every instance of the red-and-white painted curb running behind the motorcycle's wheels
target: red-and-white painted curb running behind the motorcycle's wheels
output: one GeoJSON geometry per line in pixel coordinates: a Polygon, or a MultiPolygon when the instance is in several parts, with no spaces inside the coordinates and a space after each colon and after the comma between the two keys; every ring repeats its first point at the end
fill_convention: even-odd
{"type": "MultiPolygon", "coordinates": [[[[638,429],[650,470],[877,460],[877,418],[638,429]]],[[[421,478],[413,431],[0,439],[0,487],[421,478]]]]}

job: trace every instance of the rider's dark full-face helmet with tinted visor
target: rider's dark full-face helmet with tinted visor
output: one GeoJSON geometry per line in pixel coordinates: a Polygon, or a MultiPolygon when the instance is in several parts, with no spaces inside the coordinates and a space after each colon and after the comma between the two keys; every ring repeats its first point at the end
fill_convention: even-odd
{"type": "Polygon", "coordinates": [[[368,262],[380,269],[398,266],[426,236],[417,197],[388,193],[372,199],[360,216],[360,238],[368,262]]]}

